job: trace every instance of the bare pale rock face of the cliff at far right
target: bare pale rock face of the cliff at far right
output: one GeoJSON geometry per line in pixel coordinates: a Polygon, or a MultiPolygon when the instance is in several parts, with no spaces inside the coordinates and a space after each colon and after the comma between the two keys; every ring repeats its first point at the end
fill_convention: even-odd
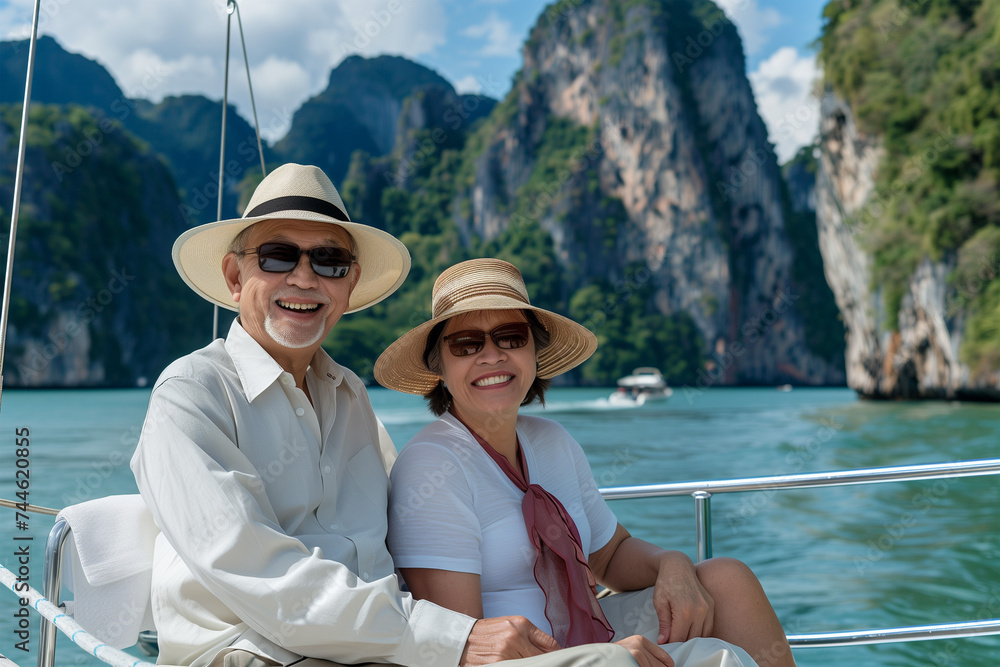
{"type": "Polygon", "coordinates": [[[953,307],[953,254],[938,261],[924,257],[903,296],[898,328],[887,325],[866,247],[888,203],[875,188],[882,141],[860,130],[850,107],[833,93],[822,102],[820,147],[820,249],[848,328],[848,384],[871,398],[1000,399],[1000,369],[972,369],[960,360],[966,318],[953,307]]]}

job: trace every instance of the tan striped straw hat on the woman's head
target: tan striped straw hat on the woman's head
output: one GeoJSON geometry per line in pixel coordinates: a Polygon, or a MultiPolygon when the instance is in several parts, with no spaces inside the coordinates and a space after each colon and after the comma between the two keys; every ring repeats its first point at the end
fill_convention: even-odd
{"type": "Polygon", "coordinates": [[[427,336],[434,325],[484,310],[530,310],[549,332],[549,344],[538,352],[538,377],[553,378],[574,368],[597,349],[597,337],[586,327],[532,306],[521,272],[499,259],[470,259],[445,270],[434,283],[431,319],[407,331],[375,362],[375,379],[389,389],[425,395],[440,377],[424,361],[427,336]]]}

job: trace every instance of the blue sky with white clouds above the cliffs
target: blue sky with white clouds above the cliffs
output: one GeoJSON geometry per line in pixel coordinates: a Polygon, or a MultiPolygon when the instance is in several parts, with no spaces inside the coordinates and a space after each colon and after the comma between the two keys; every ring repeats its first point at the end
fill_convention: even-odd
{"type": "MultiPolygon", "coordinates": [[[[826,0],[716,0],[740,31],[758,108],[787,159],[815,134],[811,43],[826,0]]],[[[44,0],[40,31],[107,67],[126,94],[222,97],[225,0],[44,0]]],[[[241,0],[262,131],[271,140],[346,55],[403,55],[463,91],[502,97],[547,0],[241,0]]],[[[0,33],[27,36],[33,0],[0,0],[0,33]]],[[[235,23],[234,23],[235,30],[235,23]]],[[[238,39],[234,32],[234,40],[238,39]]],[[[230,99],[252,118],[238,41],[230,99]]]]}

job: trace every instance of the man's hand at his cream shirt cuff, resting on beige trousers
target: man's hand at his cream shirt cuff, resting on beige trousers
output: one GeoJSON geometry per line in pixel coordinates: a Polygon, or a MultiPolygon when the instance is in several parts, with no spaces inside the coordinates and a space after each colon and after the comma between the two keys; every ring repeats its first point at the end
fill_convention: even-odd
{"type": "Polygon", "coordinates": [[[483,618],[472,626],[459,665],[492,665],[558,650],[556,640],[523,616],[483,618]]]}

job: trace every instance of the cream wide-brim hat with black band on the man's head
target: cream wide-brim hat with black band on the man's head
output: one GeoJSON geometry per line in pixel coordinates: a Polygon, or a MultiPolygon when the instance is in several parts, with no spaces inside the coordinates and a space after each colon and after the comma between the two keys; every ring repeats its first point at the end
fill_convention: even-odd
{"type": "Polygon", "coordinates": [[[239,310],[222,274],[222,258],[233,239],[264,220],[310,220],[343,227],[357,246],[361,278],[348,313],[376,304],[396,291],[410,271],[410,253],[380,229],[352,222],[340,193],[319,167],[284,164],[260,182],[242,218],[189,229],[174,242],[174,266],[184,282],[212,303],[239,310]]]}

